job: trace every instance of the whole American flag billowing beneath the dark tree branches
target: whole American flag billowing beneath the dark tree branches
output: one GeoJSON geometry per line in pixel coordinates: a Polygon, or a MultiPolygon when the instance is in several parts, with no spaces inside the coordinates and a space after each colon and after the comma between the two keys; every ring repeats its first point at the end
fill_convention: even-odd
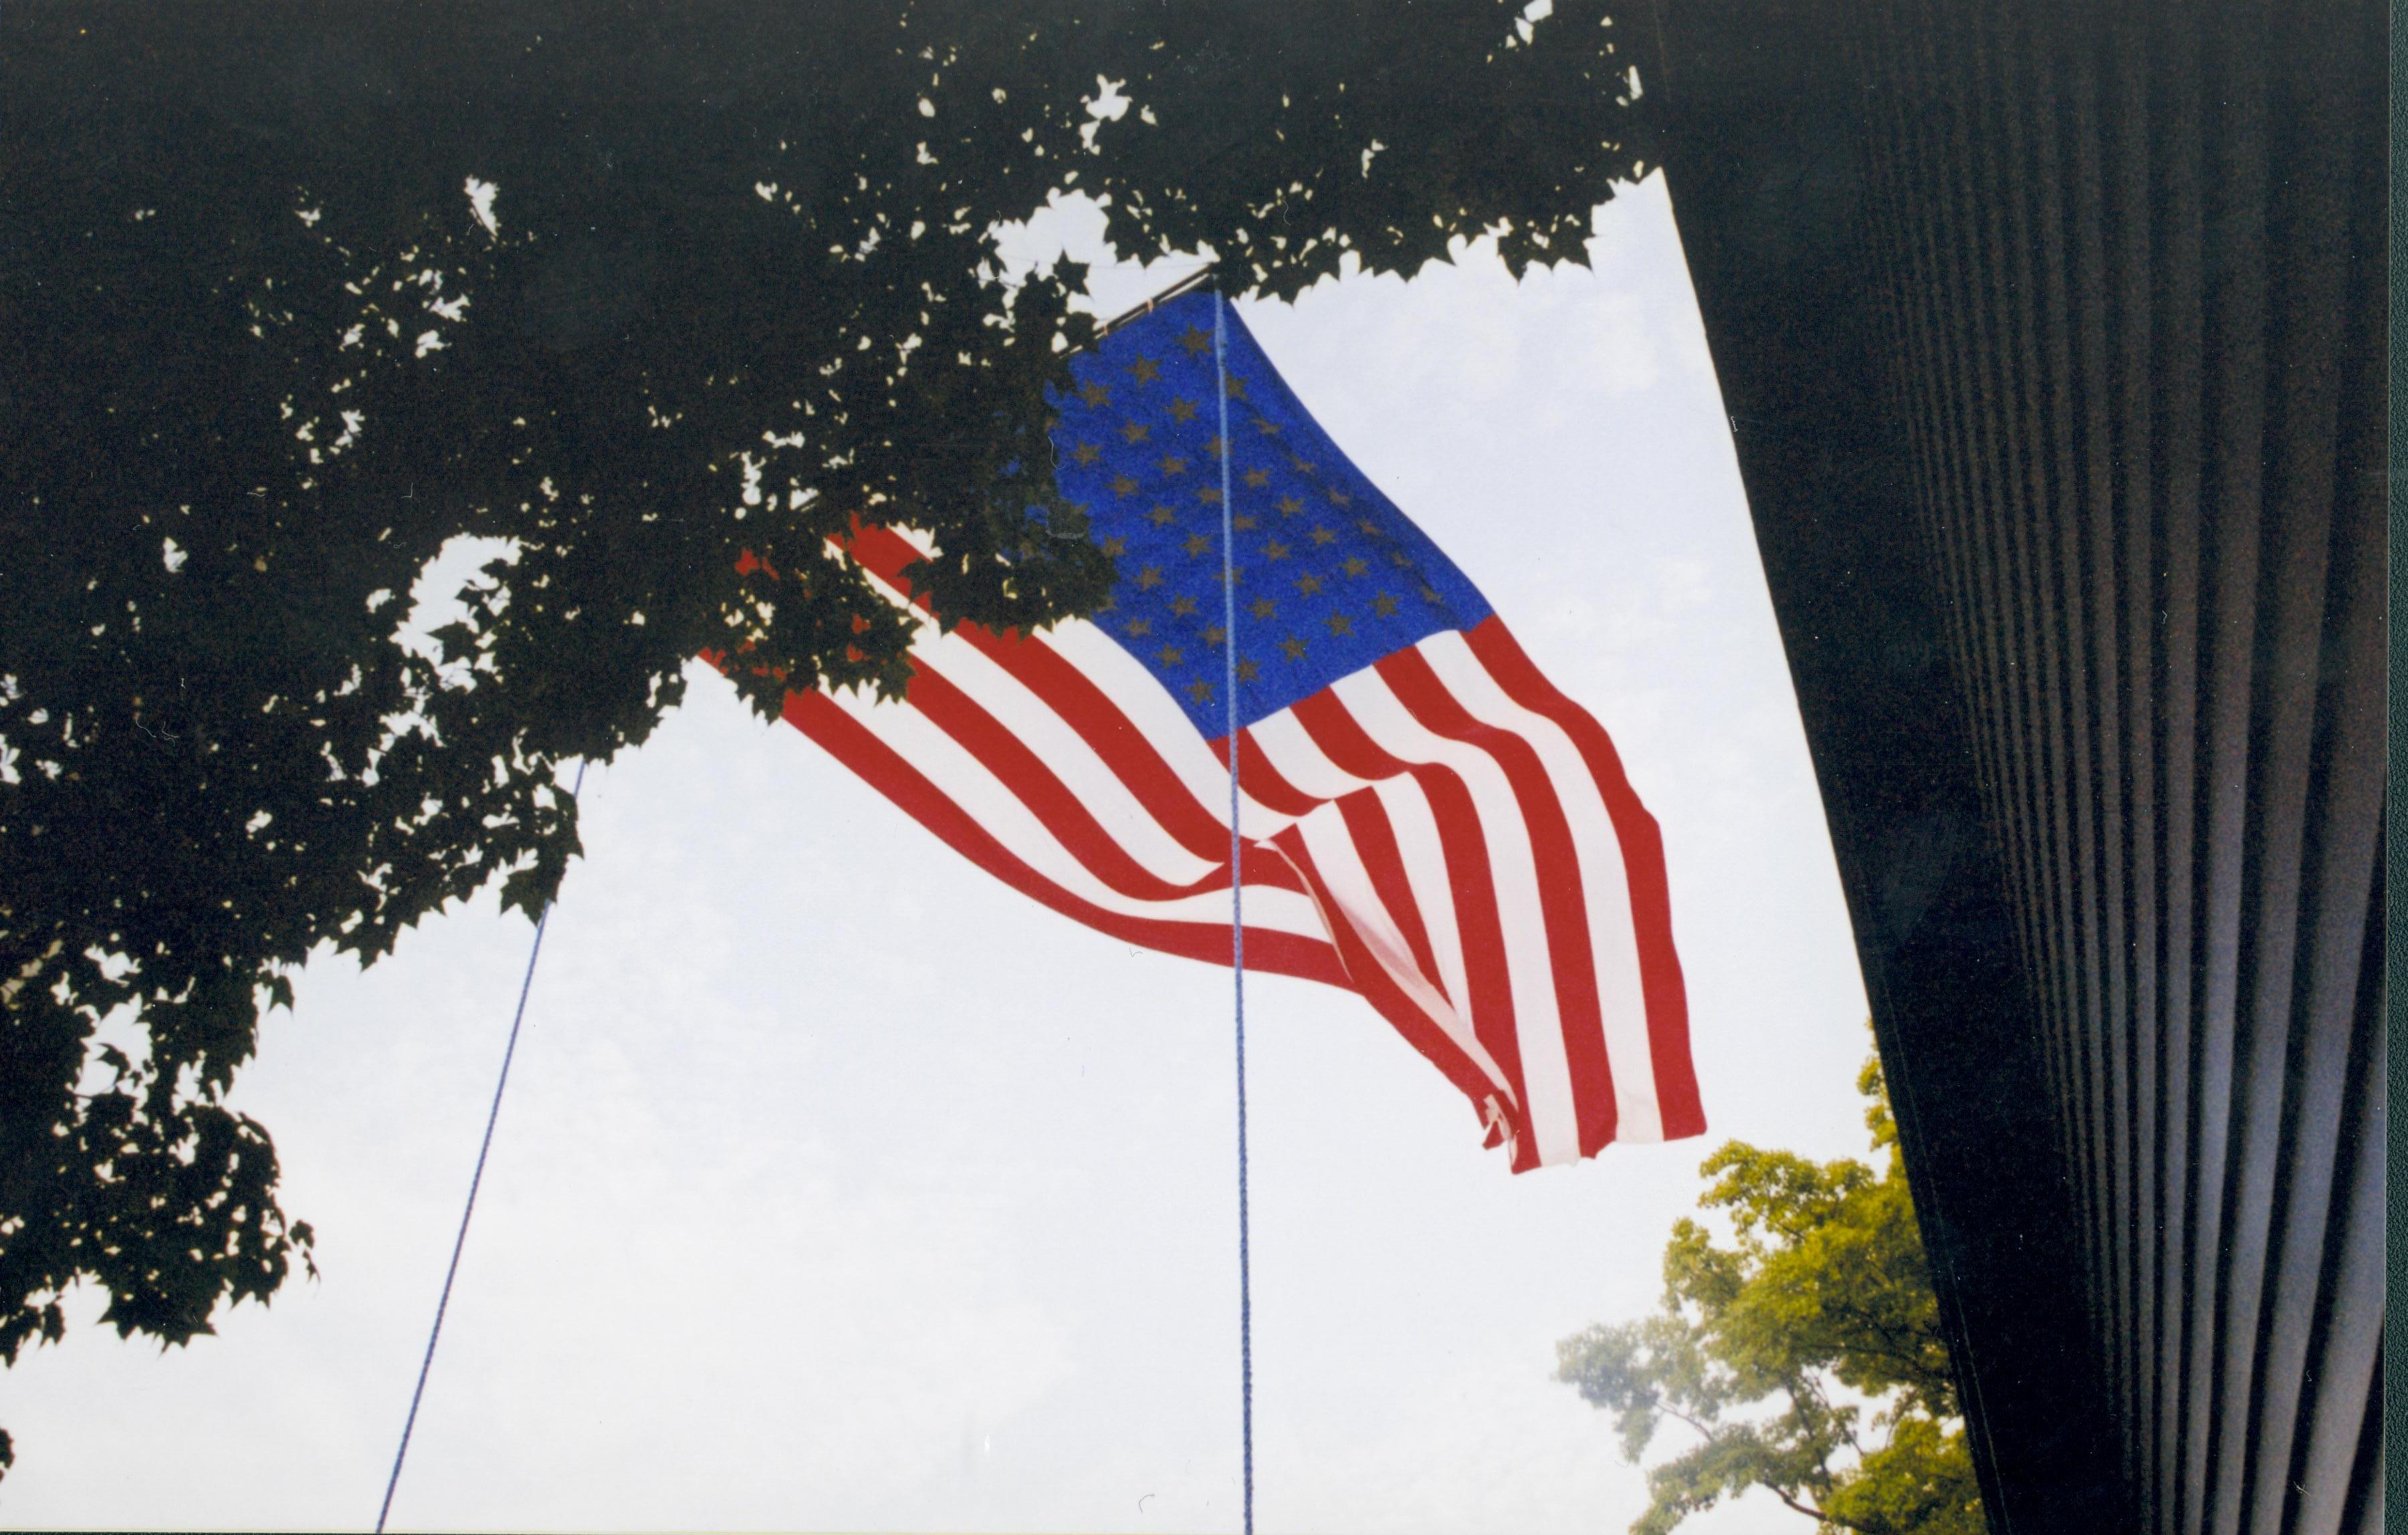
{"type": "Polygon", "coordinates": [[[1072,363],[1055,479],[1117,568],[1093,618],[939,633],[927,549],[869,527],[852,558],[922,618],[905,698],[785,717],[1014,890],[1228,965],[1230,537],[1247,967],[1363,996],[1515,1172],[1702,1133],[1664,844],[1606,731],[1214,322],[1170,298],[1072,363]]]}

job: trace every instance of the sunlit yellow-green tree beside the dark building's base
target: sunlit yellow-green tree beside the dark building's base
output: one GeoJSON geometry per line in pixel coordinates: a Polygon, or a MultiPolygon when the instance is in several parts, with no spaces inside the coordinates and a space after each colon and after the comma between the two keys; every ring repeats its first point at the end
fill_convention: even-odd
{"type": "Polygon", "coordinates": [[[1625,1458],[1664,1420],[1693,1436],[1649,1468],[1633,1535],[1753,1487],[1823,1530],[1987,1528],[1878,1061],[1857,1087],[1881,1174],[1731,1140],[1705,1160],[1714,1184],[1698,1201],[1729,1244],[1681,1220],[1664,1309],[1556,1345],[1556,1379],[1616,1415],[1625,1458]]]}

